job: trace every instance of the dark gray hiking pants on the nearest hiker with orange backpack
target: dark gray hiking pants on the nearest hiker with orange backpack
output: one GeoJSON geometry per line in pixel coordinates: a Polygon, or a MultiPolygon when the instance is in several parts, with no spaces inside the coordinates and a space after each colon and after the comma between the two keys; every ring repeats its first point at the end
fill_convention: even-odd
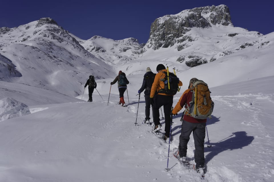
{"type": "Polygon", "coordinates": [[[183,120],[179,141],[179,155],[186,156],[190,134],[193,132],[195,145],[194,159],[196,166],[205,165],[204,142],[206,137],[206,123],[191,123],[183,120]]]}

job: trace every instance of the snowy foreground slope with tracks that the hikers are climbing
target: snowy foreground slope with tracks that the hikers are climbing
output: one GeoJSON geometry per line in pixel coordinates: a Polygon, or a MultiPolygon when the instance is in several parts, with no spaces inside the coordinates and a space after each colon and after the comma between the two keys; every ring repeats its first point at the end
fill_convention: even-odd
{"type": "MultiPolygon", "coordinates": [[[[269,86],[274,76],[210,88],[215,108],[207,122],[212,147],[206,147],[206,137],[205,180],[180,166],[171,153],[171,170],[165,170],[168,144],[142,124],[144,97],[138,106],[136,95],[142,79],[135,76],[128,76],[134,91],[128,89],[127,107],[116,105],[118,89],[112,87],[110,95],[100,93],[104,101],[95,91],[93,103],[33,105],[31,114],[0,122],[0,181],[274,180],[274,94],[269,86]]],[[[98,82],[98,88],[110,87],[110,81],[98,82]]],[[[174,96],[174,106],[181,94],[174,96]]],[[[178,147],[181,116],[182,111],[173,118],[171,151],[178,147]]],[[[192,136],[188,158],[193,162],[192,136]]]]}

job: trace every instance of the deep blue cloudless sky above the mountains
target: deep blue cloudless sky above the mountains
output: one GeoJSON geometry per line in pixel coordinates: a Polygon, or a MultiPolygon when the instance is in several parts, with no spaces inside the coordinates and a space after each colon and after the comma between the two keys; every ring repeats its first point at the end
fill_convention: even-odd
{"type": "Polygon", "coordinates": [[[151,23],[156,18],[185,9],[224,4],[229,7],[234,26],[262,34],[274,31],[274,3],[270,0],[93,1],[3,0],[0,2],[0,27],[13,28],[51,17],[65,30],[84,40],[99,35],[114,40],[134,37],[139,43],[146,43],[151,23]]]}

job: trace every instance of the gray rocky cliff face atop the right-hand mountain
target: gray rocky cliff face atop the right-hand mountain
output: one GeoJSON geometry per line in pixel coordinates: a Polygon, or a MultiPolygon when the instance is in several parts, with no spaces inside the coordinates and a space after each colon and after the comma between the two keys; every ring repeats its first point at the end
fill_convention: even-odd
{"type": "Polygon", "coordinates": [[[186,32],[193,27],[211,27],[211,24],[232,25],[227,6],[199,7],[156,19],[150,27],[150,38],[147,47],[156,50],[160,47],[174,46],[176,43],[187,40],[191,42],[194,38],[186,35],[186,32]]]}

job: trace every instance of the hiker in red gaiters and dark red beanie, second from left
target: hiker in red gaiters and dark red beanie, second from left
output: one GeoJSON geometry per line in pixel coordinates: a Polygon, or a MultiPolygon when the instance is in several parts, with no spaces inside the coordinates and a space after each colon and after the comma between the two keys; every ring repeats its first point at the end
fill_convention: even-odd
{"type": "Polygon", "coordinates": [[[120,101],[118,104],[122,104],[122,107],[126,106],[124,101],[124,92],[126,91],[127,84],[129,84],[128,79],[126,78],[126,74],[122,71],[119,71],[118,76],[110,83],[110,85],[115,84],[118,81],[118,90],[119,90],[119,97],[120,101]]]}

